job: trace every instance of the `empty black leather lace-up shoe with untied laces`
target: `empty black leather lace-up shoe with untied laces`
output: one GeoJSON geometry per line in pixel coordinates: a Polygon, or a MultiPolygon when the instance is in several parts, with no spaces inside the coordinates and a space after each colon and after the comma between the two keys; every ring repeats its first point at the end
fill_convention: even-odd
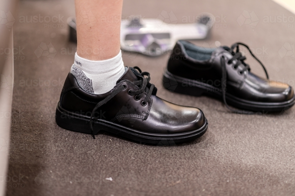
{"type": "Polygon", "coordinates": [[[237,113],[281,111],[295,103],[293,88],[268,80],[263,64],[243,43],[235,43],[231,48],[223,46],[211,49],[178,41],[163,81],[164,87],[174,92],[221,98],[227,108],[237,113]],[[245,56],[239,52],[239,45],[245,46],[261,64],[267,79],[250,72],[249,65],[244,62],[245,56]],[[227,104],[242,110],[232,109],[227,104]]]}

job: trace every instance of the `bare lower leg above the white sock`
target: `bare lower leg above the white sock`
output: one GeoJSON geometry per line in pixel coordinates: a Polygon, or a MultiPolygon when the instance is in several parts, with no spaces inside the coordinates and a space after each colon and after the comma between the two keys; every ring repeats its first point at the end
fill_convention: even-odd
{"type": "Polygon", "coordinates": [[[123,0],[75,0],[77,54],[101,61],[120,51],[123,0]]]}

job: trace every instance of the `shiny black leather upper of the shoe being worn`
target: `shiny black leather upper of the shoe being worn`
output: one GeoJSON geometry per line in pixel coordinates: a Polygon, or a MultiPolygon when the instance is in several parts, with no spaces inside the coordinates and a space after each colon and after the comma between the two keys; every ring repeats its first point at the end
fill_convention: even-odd
{"type": "MultiPolygon", "coordinates": [[[[194,131],[206,123],[204,113],[193,107],[180,106],[157,97],[153,91],[148,103],[143,106],[142,101],[135,100],[135,96],[128,94],[129,90],[138,90],[132,82],[139,78],[134,74],[135,70],[128,70],[117,81],[116,86],[126,85],[126,88],[118,93],[106,104],[98,108],[95,118],[117,123],[127,128],[138,131],[157,134],[174,134],[194,131]]],[[[148,86],[150,83],[148,84],[148,86]]],[[[69,73],[63,89],[66,91],[73,87],[79,87],[76,78],[69,73]]],[[[62,94],[60,107],[73,113],[90,116],[95,105],[106,98],[113,90],[101,94],[90,94],[82,88],[73,88],[62,94]]]]}

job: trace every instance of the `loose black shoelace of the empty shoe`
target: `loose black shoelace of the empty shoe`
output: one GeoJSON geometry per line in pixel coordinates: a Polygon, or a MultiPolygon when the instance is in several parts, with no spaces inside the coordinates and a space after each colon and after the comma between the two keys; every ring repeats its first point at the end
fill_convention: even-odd
{"type": "MultiPolygon", "coordinates": [[[[267,71],[266,71],[266,68],[263,66],[263,64],[261,63],[261,61],[259,61],[258,58],[256,58],[256,56],[252,53],[252,51],[250,50],[250,48],[244,44],[244,43],[240,43],[240,42],[237,42],[237,43],[234,43],[231,48],[230,48],[230,53],[233,55],[233,57],[228,60],[228,64],[231,64],[235,59],[237,59],[237,63],[235,63],[234,65],[234,68],[236,69],[240,64],[243,64],[245,67],[240,71],[240,74],[242,74],[244,71],[248,70],[250,71],[250,66],[245,63],[244,61],[246,60],[246,57],[245,56],[242,56],[242,53],[239,52],[239,45],[242,45],[242,46],[245,46],[248,51],[250,52],[250,54],[253,56],[253,58],[256,59],[256,61],[258,61],[260,63],[260,65],[263,67],[264,69],[264,72],[266,74],[266,78],[268,79],[268,74],[267,74],[267,71]],[[236,48],[236,51],[234,52],[236,48]]],[[[221,57],[220,59],[220,63],[221,63],[221,72],[222,72],[222,83],[221,83],[221,90],[222,90],[222,98],[223,98],[223,102],[225,104],[225,106],[232,112],[235,112],[235,113],[240,113],[240,114],[253,114],[252,111],[247,111],[247,110],[239,110],[239,109],[232,109],[230,108],[229,105],[227,105],[227,102],[226,102],[226,91],[227,91],[227,88],[226,88],[226,77],[227,77],[227,71],[226,71],[226,63],[225,63],[225,58],[224,56],[221,57]]]]}

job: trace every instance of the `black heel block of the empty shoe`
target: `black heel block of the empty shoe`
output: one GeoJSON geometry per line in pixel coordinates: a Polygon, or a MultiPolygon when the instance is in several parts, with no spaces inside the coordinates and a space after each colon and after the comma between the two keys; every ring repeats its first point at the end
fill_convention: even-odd
{"type": "Polygon", "coordinates": [[[193,96],[202,96],[206,93],[205,89],[198,87],[196,84],[175,79],[171,73],[167,72],[163,75],[163,87],[171,92],[193,96]]]}

